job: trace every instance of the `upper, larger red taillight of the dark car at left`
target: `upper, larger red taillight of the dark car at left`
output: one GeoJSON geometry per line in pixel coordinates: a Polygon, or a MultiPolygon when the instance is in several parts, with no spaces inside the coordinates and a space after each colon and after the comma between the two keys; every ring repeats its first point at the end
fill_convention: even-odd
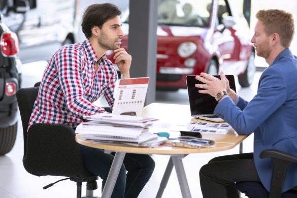
{"type": "Polygon", "coordinates": [[[19,52],[19,41],[14,32],[5,32],[2,35],[1,49],[4,56],[13,56],[19,52]]]}

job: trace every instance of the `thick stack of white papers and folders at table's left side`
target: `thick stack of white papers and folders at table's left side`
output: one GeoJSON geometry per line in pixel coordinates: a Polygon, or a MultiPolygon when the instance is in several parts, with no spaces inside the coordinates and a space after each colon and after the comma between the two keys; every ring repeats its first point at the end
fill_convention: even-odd
{"type": "Polygon", "coordinates": [[[80,123],[75,131],[84,139],[143,144],[158,138],[148,131],[154,120],[152,118],[114,114],[95,114],[84,118],[91,121],[80,123]]]}

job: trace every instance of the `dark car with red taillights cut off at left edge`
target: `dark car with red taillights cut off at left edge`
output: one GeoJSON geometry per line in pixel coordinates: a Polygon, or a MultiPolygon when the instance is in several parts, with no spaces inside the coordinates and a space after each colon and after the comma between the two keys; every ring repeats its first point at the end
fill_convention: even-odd
{"type": "MultiPolygon", "coordinates": [[[[7,2],[6,2],[7,3],[7,2]]],[[[21,61],[17,56],[19,42],[3,20],[2,11],[25,12],[26,1],[14,1],[14,5],[0,5],[0,155],[11,151],[17,134],[18,105],[16,92],[21,85],[21,61]]]]}

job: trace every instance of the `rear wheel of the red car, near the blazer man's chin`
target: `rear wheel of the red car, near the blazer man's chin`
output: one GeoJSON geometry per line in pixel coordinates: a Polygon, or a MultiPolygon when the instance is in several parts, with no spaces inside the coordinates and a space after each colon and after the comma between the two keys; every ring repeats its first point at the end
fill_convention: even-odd
{"type": "Polygon", "coordinates": [[[249,87],[254,79],[256,67],[255,67],[255,52],[252,51],[247,62],[247,67],[242,76],[238,77],[238,82],[242,87],[249,87]]]}

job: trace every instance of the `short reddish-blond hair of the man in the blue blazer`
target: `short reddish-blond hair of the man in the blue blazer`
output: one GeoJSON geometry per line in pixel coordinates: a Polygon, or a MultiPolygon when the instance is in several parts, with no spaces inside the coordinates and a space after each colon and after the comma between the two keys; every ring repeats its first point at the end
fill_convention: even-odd
{"type": "Polygon", "coordinates": [[[291,13],[284,10],[260,10],[256,18],[264,25],[268,36],[277,33],[280,36],[280,43],[288,48],[293,40],[294,19],[291,13]]]}

